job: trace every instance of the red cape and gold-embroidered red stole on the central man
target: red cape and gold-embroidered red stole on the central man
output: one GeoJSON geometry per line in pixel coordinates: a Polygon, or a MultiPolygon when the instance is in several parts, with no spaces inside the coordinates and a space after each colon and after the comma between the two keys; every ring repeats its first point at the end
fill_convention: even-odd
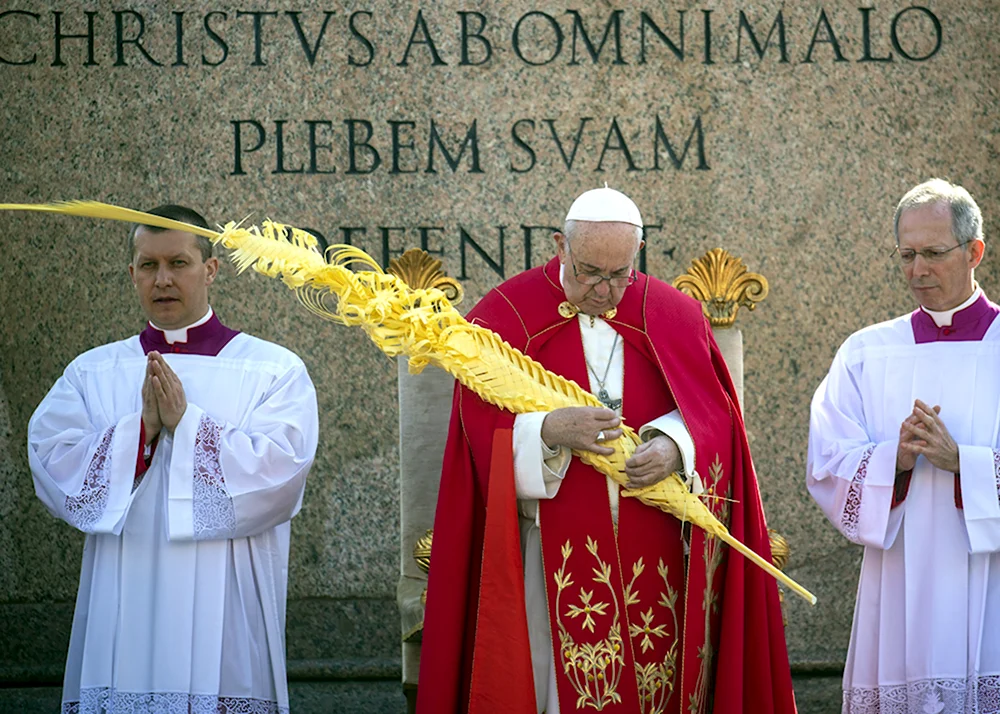
{"type": "MultiPolygon", "coordinates": [[[[469,314],[512,346],[587,385],[559,263],[503,283],[469,314]]],[[[608,321],[625,346],[623,418],[679,409],[716,516],[770,559],[735,391],[701,306],[640,275],[608,321]]],[[[528,714],[535,696],[514,489],[514,415],[458,386],[434,522],[420,662],[420,714],[528,714]]],[[[622,498],[574,459],[541,501],[556,684],[564,714],[795,711],[774,580],[698,528],[622,498]],[[685,555],[685,540],[690,554],[685,555]]]]}

